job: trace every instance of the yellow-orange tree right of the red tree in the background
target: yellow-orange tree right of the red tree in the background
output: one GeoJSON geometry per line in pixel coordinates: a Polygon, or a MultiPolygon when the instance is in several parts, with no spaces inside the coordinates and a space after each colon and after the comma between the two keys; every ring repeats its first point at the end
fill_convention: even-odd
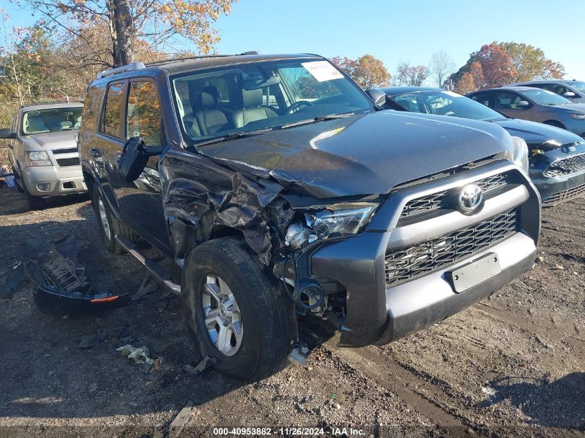
{"type": "Polygon", "coordinates": [[[498,47],[512,59],[519,82],[561,79],[565,75],[564,66],[548,59],[541,48],[515,42],[499,43],[498,47]]]}

